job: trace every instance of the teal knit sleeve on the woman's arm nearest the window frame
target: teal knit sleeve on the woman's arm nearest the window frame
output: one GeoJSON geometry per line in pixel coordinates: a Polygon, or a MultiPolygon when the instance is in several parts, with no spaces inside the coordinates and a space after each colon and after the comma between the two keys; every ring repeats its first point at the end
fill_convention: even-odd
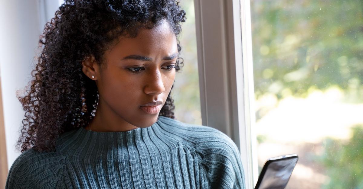
{"type": "Polygon", "coordinates": [[[205,189],[245,189],[240,152],[231,138],[219,130],[199,143],[203,151],[205,189]]]}

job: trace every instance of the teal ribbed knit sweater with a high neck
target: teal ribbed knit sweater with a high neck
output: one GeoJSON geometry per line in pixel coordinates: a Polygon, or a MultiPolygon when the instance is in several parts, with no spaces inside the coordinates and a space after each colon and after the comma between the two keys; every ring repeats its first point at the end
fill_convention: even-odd
{"type": "Polygon", "coordinates": [[[25,151],[6,189],[245,189],[236,144],[221,131],[160,116],[146,128],[62,134],[54,152],[25,151]]]}

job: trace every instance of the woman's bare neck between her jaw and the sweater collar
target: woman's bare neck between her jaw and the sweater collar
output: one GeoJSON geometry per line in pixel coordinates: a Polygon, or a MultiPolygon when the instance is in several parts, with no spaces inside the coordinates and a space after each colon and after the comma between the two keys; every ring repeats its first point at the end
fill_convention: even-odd
{"type": "Polygon", "coordinates": [[[86,129],[97,132],[117,132],[137,129],[114,112],[102,98],[98,101],[95,117],[86,129]]]}

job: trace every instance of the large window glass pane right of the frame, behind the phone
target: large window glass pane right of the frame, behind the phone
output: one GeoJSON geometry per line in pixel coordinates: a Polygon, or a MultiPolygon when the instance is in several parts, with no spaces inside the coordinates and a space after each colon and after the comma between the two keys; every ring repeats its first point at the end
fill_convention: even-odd
{"type": "Polygon", "coordinates": [[[251,0],[258,164],[287,185],[363,188],[363,1],[251,0]]]}

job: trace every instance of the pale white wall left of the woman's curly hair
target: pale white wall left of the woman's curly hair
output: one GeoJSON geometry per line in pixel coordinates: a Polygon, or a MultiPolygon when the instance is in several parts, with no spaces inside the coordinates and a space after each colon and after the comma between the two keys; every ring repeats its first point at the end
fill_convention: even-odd
{"type": "Polygon", "coordinates": [[[20,155],[15,143],[24,118],[16,91],[24,89],[30,80],[37,61],[39,35],[57,8],[57,0],[1,0],[0,77],[9,169],[20,155]]]}

